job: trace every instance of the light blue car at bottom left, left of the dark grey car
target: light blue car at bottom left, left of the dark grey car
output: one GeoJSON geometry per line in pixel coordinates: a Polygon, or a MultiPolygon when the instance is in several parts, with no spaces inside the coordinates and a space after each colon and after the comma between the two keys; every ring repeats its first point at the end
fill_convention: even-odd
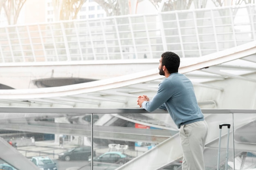
{"type": "Polygon", "coordinates": [[[32,157],[31,161],[40,168],[40,170],[57,170],[56,163],[49,157],[32,157]]]}

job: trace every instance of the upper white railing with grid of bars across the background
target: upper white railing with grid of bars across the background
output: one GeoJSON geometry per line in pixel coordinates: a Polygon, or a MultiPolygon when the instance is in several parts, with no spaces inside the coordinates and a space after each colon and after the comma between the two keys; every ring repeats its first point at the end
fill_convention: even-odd
{"type": "Polygon", "coordinates": [[[169,11],[0,28],[0,62],[199,57],[256,40],[256,6],[169,11]]]}

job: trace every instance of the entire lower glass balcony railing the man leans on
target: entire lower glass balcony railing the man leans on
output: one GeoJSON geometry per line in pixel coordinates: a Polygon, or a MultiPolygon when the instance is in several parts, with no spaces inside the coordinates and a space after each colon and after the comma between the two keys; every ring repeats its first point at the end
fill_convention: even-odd
{"type": "MultiPolygon", "coordinates": [[[[204,150],[206,169],[216,170],[221,123],[231,124],[229,169],[256,168],[256,110],[202,111],[209,125],[204,150]]],[[[78,170],[81,167],[94,170],[181,168],[178,129],[165,110],[148,113],[140,108],[1,107],[0,112],[0,163],[9,163],[18,170],[34,170],[34,161],[29,159],[38,156],[52,159],[58,170],[78,170]],[[63,139],[63,144],[60,144],[60,139],[63,139]],[[10,141],[16,143],[17,148],[8,144],[10,141]],[[71,150],[74,148],[77,148],[76,152],[71,150]],[[94,159],[90,157],[92,152],[94,159]],[[112,154],[115,158],[109,155],[99,157],[103,154],[112,154]],[[125,158],[119,158],[120,154],[125,158]]],[[[222,128],[221,139],[220,164],[223,167],[226,128],[222,128]]]]}

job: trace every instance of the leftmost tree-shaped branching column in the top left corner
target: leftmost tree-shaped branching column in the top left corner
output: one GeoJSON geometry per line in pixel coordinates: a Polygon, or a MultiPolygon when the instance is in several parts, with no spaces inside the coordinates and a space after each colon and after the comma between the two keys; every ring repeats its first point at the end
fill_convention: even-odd
{"type": "Polygon", "coordinates": [[[20,10],[26,0],[0,0],[0,5],[3,5],[4,12],[7,16],[8,24],[16,24],[20,10]]]}

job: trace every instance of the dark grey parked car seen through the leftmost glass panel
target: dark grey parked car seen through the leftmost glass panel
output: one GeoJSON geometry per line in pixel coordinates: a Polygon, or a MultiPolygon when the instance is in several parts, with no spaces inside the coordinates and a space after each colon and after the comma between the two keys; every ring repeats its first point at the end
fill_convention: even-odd
{"type": "MultiPolygon", "coordinates": [[[[93,151],[95,155],[95,151],[93,151]]],[[[58,159],[70,161],[70,160],[88,160],[91,156],[91,146],[80,146],[67,150],[58,154],[58,159]]]]}

